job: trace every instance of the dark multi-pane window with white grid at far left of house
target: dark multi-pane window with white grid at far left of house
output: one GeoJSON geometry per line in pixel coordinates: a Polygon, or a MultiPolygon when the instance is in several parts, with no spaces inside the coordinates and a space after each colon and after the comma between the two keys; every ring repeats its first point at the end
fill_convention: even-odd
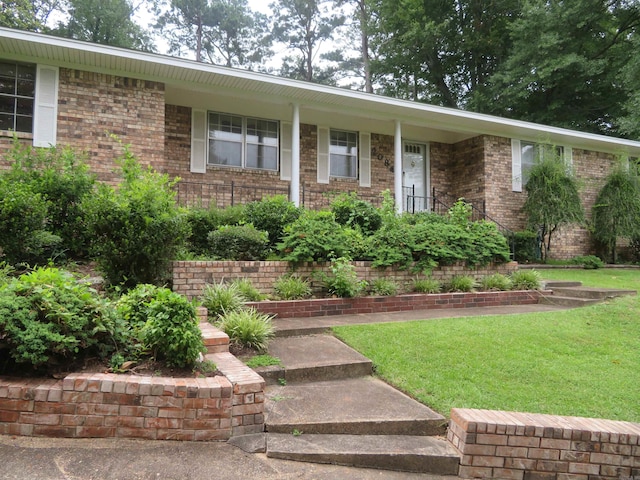
{"type": "Polygon", "coordinates": [[[0,62],[0,130],[33,132],[35,65],[0,62]]]}

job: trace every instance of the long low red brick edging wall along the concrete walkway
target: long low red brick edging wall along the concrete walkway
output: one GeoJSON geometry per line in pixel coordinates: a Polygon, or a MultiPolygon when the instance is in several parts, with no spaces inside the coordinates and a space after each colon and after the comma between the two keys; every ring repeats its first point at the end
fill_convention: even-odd
{"type": "Polygon", "coordinates": [[[410,294],[389,297],[319,298],[275,302],[250,302],[247,305],[279,318],[355,315],[440,308],[498,307],[532,305],[545,293],[541,291],[410,294]]]}

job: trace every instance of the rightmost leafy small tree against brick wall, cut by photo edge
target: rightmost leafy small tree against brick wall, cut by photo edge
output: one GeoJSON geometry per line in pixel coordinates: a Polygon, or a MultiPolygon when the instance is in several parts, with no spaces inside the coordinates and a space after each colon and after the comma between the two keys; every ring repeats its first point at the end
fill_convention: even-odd
{"type": "Polygon", "coordinates": [[[640,236],[640,178],[628,164],[615,168],[598,193],[593,206],[593,236],[607,247],[613,263],[618,239],[640,236]]]}

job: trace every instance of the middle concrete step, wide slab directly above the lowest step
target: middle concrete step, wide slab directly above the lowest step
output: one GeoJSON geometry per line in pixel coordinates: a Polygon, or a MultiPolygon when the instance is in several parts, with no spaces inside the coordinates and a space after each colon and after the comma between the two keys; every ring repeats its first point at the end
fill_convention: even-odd
{"type": "Polygon", "coordinates": [[[374,377],[269,385],[269,433],[442,435],[445,418],[374,377]]]}

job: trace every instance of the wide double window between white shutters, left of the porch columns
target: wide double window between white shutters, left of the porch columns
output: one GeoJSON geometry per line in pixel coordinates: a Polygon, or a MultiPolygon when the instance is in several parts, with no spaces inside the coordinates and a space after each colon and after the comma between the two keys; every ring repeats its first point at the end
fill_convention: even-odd
{"type": "Polygon", "coordinates": [[[209,112],[209,165],[278,170],[275,120],[209,112]]]}

